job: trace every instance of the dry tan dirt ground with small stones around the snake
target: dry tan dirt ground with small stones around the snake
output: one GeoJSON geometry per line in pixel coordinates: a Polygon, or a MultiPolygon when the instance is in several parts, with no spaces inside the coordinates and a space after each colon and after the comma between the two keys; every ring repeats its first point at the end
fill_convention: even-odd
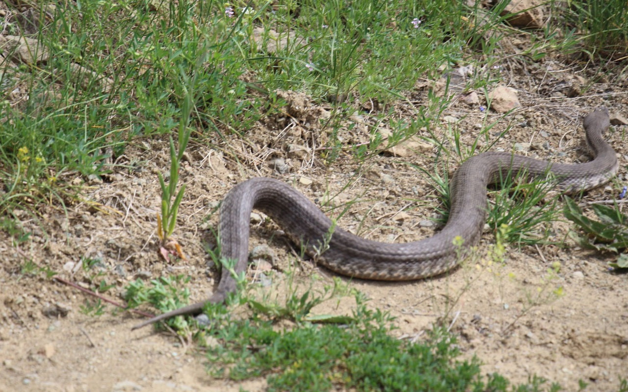
{"type": "MultiPolygon", "coordinates": [[[[511,58],[503,66],[502,79],[516,88],[521,108],[500,118],[457,97],[435,122],[440,124],[436,134],[457,127],[462,142],[470,146],[485,124],[499,120],[490,130],[492,137],[508,125],[511,129],[492,150],[511,151],[519,143],[523,147],[518,154],[582,162],[588,158],[578,116],[602,104],[614,114],[628,114],[625,77],[593,83],[592,74],[568,60],[524,65],[511,58]],[[590,83],[585,90],[583,86],[590,83]],[[579,93],[573,94],[574,88],[579,93]],[[448,125],[447,120],[457,122],[448,125]]],[[[425,104],[427,88],[418,83],[411,93],[413,105],[425,104]]],[[[477,93],[485,104],[484,90],[477,93]]],[[[355,115],[346,120],[356,126],[342,135],[346,150],[336,161],[325,162],[321,147],[327,134],[318,119],[328,117],[330,106],[310,102],[298,93],[282,94],[290,102],[289,115],[257,124],[257,129],[247,133],[247,140],[208,139],[205,144],[193,142],[188,149],[180,176],[187,189],[175,232],[187,260],[165,263],[158,255],[156,173],[168,172],[165,139],[135,140],[123,156],[115,157],[118,166],[113,166],[112,174],[104,181],[90,180],[84,202],[68,206],[65,213],[58,206],[42,206],[41,218],[35,220],[15,211],[31,235],[22,242],[8,235],[0,238],[1,391],[263,390],[263,380],[211,379],[205,373],[202,353],[185,339],[150,327],[131,332],[131,326],[142,319],[138,315],[114,312],[112,306],[103,315],[85,315],[81,307],[92,298],[44,273],[21,273],[30,260],[57,272],[58,277],[93,289],[89,278],[100,272],[95,282],[104,279],[114,285],[106,295],[120,302],[119,295],[131,280],[183,274],[192,277],[192,300],[201,300],[212,292],[217,279],[203,250],[212,240],[210,228],[217,225],[215,207],[232,186],[250,177],[286,181],[319,205],[328,201],[324,209],[356,201],[338,225],[359,230],[372,240],[414,241],[438,230],[426,222],[435,216],[438,204],[433,185],[426,174],[411,166],[428,170],[439,166],[435,146],[411,140],[356,164],[350,146],[369,140],[367,125],[373,124],[368,105],[356,105],[355,115]],[[283,174],[273,161],[276,158],[287,165],[283,174]],[[81,258],[100,262],[95,270],[85,271],[81,258]]],[[[395,109],[401,118],[413,113],[409,102],[397,103],[395,109]]],[[[386,133],[385,124],[379,132],[386,133]]],[[[626,183],[625,126],[612,127],[607,138],[620,159],[619,175],[607,186],[585,194],[579,200],[582,204],[613,199],[626,183]]],[[[457,163],[450,163],[453,171],[457,163]]],[[[557,223],[552,238],[562,240],[569,228],[567,223],[557,223]]],[[[274,268],[279,276],[295,257],[289,242],[276,230],[268,221],[252,225],[251,248],[268,244],[276,253],[274,268]]],[[[570,240],[565,247],[509,246],[506,263],[490,266],[485,250],[494,241],[493,233],[485,233],[477,260],[447,276],[408,283],[353,280],[349,284],[364,292],[372,307],[398,317],[395,334],[408,339],[421,339],[421,331],[448,312],[447,322],[460,337],[463,356],[476,355],[484,364],[483,373],[496,371],[515,383],[536,374],[568,391],[578,389],[578,379],[589,384],[588,391],[617,390],[619,377],[627,376],[627,277],[609,272],[608,257],[582,250],[570,240]],[[556,262],[560,270],[551,275],[548,268],[556,262]],[[546,294],[558,287],[563,287],[560,298],[529,306],[529,298],[538,297],[539,290],[546,294]],[[450,307],[446,297],[456,299],[450,307]]],[[[323,282],[335,276],[308,260],[296,263],[296,270],[303,282],[313,273],[322,275],[323,282]]]]}

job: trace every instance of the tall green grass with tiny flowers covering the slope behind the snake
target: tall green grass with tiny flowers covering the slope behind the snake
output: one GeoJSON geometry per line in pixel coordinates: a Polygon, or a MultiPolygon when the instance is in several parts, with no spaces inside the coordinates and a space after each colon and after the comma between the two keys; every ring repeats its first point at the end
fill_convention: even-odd
{"type": "MultiPolygon", "coordinates": [[[[477,9],[461,4],[256,1],[246,11],[244,3],[232,4],[232,18],[223,3],[213,1],[176,6],[87,1],[46,9],[36,38],[49,60],[17,68],[5,63],[0,80],[8,91],[21,87],[29,93],[28,100],[0,107],[0,164],[13,196],[0,209],[24,198],[54,203],[75,198],[79,189],[69,185],[72,180],[111,171],[108,157],[120,156],[140,135],[170,134],[188,116],[187,109],[188,125],[202,140],[246,134],[258,119],[281,108],[278,88],[298,89],[315,100],[330,95],[358,102],[404,100],[417,78],[438,77],[438,66],[474,60],[481,53],[460,48],[480,34],[494,36],[490,31],[500,18],[474,24],[477,9]],[[415,18],[421,21],[418,28],[415,18]],[[256,26],[264,28],[259,39],[256,26]],[[294,36],[276,45],[268,36],[271,29],[280,37],[294,36]],[[276,50],[269,49],[271,43],[276,50]],[[244,82],[245,73],[254,82],[244,82]],[[192,77],[195,94],[189,102],[192,77]]],[[[17,22],[10,27],[16,33],[23,28],[17,22]]],[[[339,119],[353,111],[349,103],[338,103],[323,124],[332,147],[347,132],[339,119]]],[[[376,117],[388,122],[391,114],[376,117]]],[[[424,125],[420,120],[391,119],[391,140],[416,132],[424,125]]],[[[375,141],[369,147],[375,149],[375,141]]],[[[357,151],[358,158],[367,155],[365,148],[357,151]]]]}

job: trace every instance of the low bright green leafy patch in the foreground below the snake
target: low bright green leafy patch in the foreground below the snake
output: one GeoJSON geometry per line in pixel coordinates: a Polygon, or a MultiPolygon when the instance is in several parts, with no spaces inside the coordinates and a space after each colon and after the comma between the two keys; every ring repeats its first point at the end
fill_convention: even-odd
{"type": "MultiPolygon", "coordinates": [[[[390,336],[391,317],[369,310],[360,294],[357,308],[342,324],[305,322],[278,329],[281,319],[266,310],[246,319],[233,313],[210,317],[219,320],[205,331],[208,371],[215,378],[235,381],[264,377],[269,391],[506,391],[509,382],[499,374],[480,376],[479,361],[457,359],[456,339],[445,329],[428,331],[421,342],[390,336]],[[269,319],[270,317],[270,319],[269,319]]],[[[517,391],[544,389],[541,378],[516,386],[517,391]]]]}

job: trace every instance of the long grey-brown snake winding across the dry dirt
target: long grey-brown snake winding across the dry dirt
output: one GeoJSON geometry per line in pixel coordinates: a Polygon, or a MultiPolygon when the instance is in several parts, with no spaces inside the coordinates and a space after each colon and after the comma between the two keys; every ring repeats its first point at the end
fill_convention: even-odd
{"type": "MultiPolygon", "coordinates": [[[[551,173],[556,186],[566,193],[595,188],[609,181],[619,167],[612,147],[602,134],[609,127],[609,112],[599,107],[583,120],[587,144],[593,161],[582,164],[560,164],[522,157],[509,152],[484,152],[470,157],[453,175],[450,185],[451,209],[447,225],[431,238],[410,243],[381,243],[365,240],[348,231],[335,228],[329,238],[332,220],[303,194],[271,178],[252,178],[235,186],[220,207],[220,256],[237,260],[237,273],[246,271],[249,255],[249,220],[252,209],[270,216],[317,262],[349,277],[372,280],[415,280],[431,277],[457,265],[454,238],[462,237],[463,246],[480,240],[487,206],[486,187],[508,172],[526,171],[528,177],[551,173]],[[320,253],[325,238],[328,248],[320,253]]],[[[214,295],[209,299],[158,315],[133,327],[181,314],[202,312],[207,302],[224,302],[236,290],[236,280],[227,268],[214,295]]]]}

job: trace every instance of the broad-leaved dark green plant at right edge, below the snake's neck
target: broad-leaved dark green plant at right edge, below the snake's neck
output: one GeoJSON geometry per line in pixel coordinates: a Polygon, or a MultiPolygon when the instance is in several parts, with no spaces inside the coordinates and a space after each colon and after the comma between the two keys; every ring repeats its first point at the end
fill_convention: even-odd
{"type": "Polygon", "coordinates": [[[585,235],[570,231],[570,236],[586,248],[616,253],[617,258],[609,265],[617,270],[628,270],[628,216],[619,206],[593,204],[598,220],[585,216],[582,208],[571,198],[565,198],[565,217],[575,223],[585,235]]]}

